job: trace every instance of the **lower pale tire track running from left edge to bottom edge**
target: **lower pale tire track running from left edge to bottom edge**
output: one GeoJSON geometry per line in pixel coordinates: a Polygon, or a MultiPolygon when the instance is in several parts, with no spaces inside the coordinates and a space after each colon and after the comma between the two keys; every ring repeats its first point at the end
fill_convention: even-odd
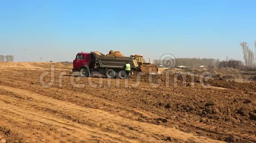
{"type": "MultiPolygon", "coordinates": [[[[0,104],[2,107],[0,107],[2,110],[9,111],[13,114],[18,114],[23,118],[28,118],[31,121],[36,121],[36,122],[41,122],[44,124],[50,124],[50,125],[55,125],[60,128],[60,130],[64,132],[68,132],[72,134],[72,136],[75,136],[76,138],[83,140],[84,138],[90,139],[92,136],[96,136],[99,139],[103,138],[104,140],[109,140],[109,141],[117,141],[119,140],[120,142],[135,142],[130,139],[125,139],[122,136],[112,134],[109,132],[103,132],[99,129],[93,129],[85,125],[80,125],[78,123],[65,120],[63,118],[59,119],[56,118],[50,114],[46,114],[40,111],[31,111],[30,109],[24,108],[22,106],[18,105],[11,105],[11,104],[6,104],[4,101],[0,101],[0,104]],[[75,133],[74,133],[75,132],[75,133]]],[[[7,114],[5,114],[7,115],[7,114]]],[[[8,116],[8,115],[7,115],[8,116]]],[[[10,116],[10,115],[9,115],[10,116]]]]}

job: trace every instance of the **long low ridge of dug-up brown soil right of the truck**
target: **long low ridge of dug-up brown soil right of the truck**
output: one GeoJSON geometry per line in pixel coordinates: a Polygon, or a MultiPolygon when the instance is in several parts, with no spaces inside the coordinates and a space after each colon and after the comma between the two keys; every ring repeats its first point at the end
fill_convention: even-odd
{"type": "Polygon", "coordinates": [[[134,79],[135,81],[139,80],[147,83],[157,83],[157,84],[166,84],[167,82],[169,83],[170,86],[173,86],[174,84],[176,84],[177,86],[191,86],[191,84],[194,82],[195,84],[203,83],[204,85],[222,87],[226,89],[243,90],[245,92],[256,91],[256,84],[254,82],[241,83],[233,80],[229,80],[229,81],[224,80],[224,79],[229,79],[231,76],[226,76],[226,78],[224,79],[222,78],[207,79],[208,76],[209,75],[204,74],[204,77],[198,77],[196,75],[194,77],[184,72],[177,72],[173,74],[172,71],[169,72],[168,75],[166,74],[149,75],[146,72],[144,73],[140,72],[132,75],[132,79],[134,79]]]}

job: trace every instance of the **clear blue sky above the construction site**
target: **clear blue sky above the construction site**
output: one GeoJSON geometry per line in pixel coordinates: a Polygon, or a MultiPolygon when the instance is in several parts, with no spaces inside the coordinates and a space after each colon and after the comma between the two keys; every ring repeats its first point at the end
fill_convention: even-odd
{"type": "Polygon", "coordinates": [[[254,49],[256,0],[1,0],[0,54],[15,61],[72,61],[120,50],[158,59],[226,56],[254,49]]]}

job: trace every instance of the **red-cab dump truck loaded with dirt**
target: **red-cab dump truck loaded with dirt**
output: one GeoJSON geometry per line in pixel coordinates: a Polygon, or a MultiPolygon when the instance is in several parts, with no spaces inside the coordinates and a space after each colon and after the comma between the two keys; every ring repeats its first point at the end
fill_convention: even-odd
{"type": "Polygon", "coordinates": [[[91,73],[105,75],[107,78],[125,79],[125,64],[131,64],[132,71],[139,68],[138,62],[132,57],[107,57],[99,52],[78,53],[73,61],[73,72],[79,72],[80,76],[89,77],[91,73]]]}

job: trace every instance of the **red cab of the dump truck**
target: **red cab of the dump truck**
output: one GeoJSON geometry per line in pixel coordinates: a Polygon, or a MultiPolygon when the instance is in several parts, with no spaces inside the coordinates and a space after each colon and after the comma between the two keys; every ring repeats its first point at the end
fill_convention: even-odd
{"type": "Polygon", "coordinates": [[[91,63],[94,61],[94,57],[91,53],[78,53],[73,61],[73,72],[80,71],[81,68],[90,68],[91,63]]]}

